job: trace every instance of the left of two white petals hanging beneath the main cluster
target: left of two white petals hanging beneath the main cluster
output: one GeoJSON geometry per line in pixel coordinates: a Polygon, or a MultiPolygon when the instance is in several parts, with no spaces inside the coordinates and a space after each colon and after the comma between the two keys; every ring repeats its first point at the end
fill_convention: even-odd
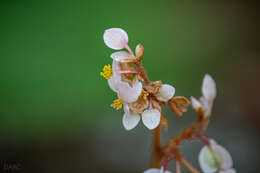
{"type": "Polygon", "coordinates": [[[140,115],[138,114],[130,114],[130,113],[125,113],[123,116],[123,125],[126,130],[132,130],[137,126],[137,124],[140,121],[140,115]]]}

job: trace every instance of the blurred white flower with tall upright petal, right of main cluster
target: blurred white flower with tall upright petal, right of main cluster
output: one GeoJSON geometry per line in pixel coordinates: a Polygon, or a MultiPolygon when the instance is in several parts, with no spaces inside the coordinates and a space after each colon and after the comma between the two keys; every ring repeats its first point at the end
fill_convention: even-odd
{"type": "Polygon", "coordinates": [[[199,100],[191,97],[192,107],[195,110],[203,108],[205,116],[208,117],[211,114],[213,101],[216,97],[216,84],[210,75],[205,75],[201,90],[202,96],[199,100]]]}

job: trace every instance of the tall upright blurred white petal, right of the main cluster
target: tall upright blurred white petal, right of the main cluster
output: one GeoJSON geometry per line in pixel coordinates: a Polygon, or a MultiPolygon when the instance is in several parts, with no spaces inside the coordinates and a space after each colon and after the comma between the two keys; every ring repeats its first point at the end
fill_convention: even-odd
{"type": "Polygon", "coordinates": [[[205,75],[202,83],[202,94],[208,101],[213,101],[216,97],[216,83],[208,74],[205,75]]]}

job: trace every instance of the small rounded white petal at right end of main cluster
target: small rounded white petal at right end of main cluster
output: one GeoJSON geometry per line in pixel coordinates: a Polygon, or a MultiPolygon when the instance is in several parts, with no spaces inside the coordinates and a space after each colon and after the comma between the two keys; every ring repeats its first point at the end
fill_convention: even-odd
{"type": "Polygon", "coordinates": [[[167,102],[175,94],[175,88],[168,84],[163,84],[158,93],[158,100],[167,102]]]}

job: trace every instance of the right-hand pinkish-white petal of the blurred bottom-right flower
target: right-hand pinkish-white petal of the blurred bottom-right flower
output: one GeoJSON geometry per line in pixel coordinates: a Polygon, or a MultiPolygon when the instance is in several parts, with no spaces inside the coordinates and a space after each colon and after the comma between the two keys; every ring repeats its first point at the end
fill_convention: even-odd
{"type": "Polygon", "coordinates": [[[229,152],[221,145],[212,145],[212,149],[221,156],[221,168],[230,169],[233,166],[233,160],[229,152]]]}

